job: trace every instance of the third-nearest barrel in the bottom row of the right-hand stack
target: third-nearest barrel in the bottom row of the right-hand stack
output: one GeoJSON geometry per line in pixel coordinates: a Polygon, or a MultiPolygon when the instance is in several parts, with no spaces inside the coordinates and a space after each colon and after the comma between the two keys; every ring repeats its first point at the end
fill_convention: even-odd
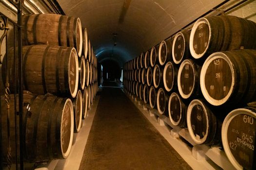
{"type": "Polygon", "coordinates": [[[172,93],[169,98],[168,112],[173,125],[179,127],[187,126],[187,106],[176,92],[172,93]]]}

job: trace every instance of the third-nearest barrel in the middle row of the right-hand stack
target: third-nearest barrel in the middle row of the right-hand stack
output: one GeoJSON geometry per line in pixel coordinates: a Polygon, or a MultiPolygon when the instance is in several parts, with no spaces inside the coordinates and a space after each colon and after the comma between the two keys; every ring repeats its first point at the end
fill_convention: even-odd
{"type": "Polygon", "coordinates": [[[177,89],[177,68],[173,62],[167,62],[163,69],[163,85],[167,92],[177,89]]]}

